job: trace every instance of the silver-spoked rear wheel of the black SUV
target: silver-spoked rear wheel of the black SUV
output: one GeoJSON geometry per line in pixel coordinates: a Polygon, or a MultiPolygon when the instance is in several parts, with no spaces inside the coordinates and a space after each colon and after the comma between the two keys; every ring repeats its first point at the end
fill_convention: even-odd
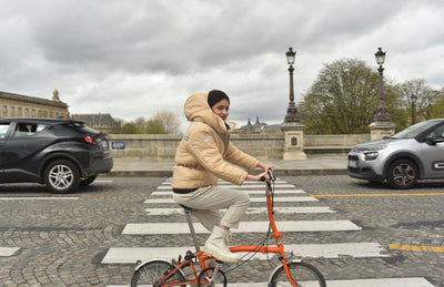
{"type": "Polygon", "coordinates": [[[69,193],[79,186],[79,171],[67,160],[51,162],[44,170],[44,183],[53,193],[69,193]]]}

